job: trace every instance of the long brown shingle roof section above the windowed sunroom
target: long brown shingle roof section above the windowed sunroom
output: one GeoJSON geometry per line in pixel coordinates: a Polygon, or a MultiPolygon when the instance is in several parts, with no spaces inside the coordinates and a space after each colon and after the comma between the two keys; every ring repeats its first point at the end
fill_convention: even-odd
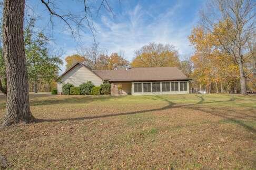
{"type": "Polygon", "coordinates": [[[168,81],[189,80],[176,67],[134,67],[117,70],[93,70],[103,80],[110,81],[168,81]]]}

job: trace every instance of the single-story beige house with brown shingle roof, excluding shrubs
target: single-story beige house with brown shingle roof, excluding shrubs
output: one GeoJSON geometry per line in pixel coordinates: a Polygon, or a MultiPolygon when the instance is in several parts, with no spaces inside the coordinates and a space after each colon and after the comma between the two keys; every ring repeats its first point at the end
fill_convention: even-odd
{"type": "Polygon", "coordinates": [[[57,91],[62,94],[63,83],[74,86],[91,81],[95,86],[111,84],[111,94],[185,94],[189,93],[189,78],[176,67],[120,68],[91,70],[75,63],[60,76],[57,91]]]}

